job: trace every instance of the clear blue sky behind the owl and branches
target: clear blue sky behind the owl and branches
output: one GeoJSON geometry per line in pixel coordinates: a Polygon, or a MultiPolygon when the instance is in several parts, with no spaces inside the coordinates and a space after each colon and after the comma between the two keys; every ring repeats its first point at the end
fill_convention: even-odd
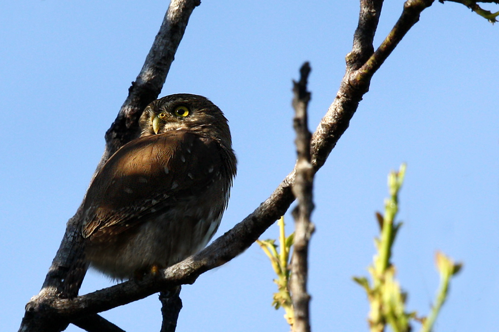
{"type": "MultiPolygon", "coordinates": [[[[402,11],[386,1],[378,45],[402,11]]],[[[81,202],[167,1],[0,3],[0,321],[15,331],[81,202]]],[[[210,98],[230,121],[239,167],[217,235],[258,206],[295,160],[291,79],[310,61],[309,123],[333,101],[351,50],[357,1],[203,1],[161,96],[210,98]]],[[[493,9],[490,7],[490,9],[493,9]]],[[[496,8],[493,11],[497,11],[496,8]]],[[[434,253],[464,263],[435,331],[499,325],[498,26],[436,2],[372,79],[350,128],[316,175],[309,290],[314,331],[368,331],[352,276],[367,275],[386,175],[408,164],[393,261],[408,310],[426,315],[434,253]]],[[[291,217],[286,222],[292,225],[291,217]]],[[[291,231],[291,227],[289,227],[291,231]]],[[[276,237],[277,226],[262,238],[276,237]]],[[[275,285],[253,245],[182,291],[178,331],[285,331],[275,285]]],[[[112,285],[89,272],[80,293],[112,285]]],[[[159,331],[157,296],[102,314],[159,331]]],[[[415,326],[419,329],[418,326],[415,326]]],[[[70,326],[67,331],[81,331],[70,326]]]]}

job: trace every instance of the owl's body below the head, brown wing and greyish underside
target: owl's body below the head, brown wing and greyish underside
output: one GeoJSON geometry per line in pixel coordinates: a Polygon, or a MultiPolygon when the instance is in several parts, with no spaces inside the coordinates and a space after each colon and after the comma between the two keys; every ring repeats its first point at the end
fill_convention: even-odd
{"type": "Polygon", "coordinates": [[[91,201],[83,235],[91,265],[113,278],[171,266],[204,248],[220,225],[233,177],[223,151],[175,134],[183,135],[157,135],[154,146],[139,139],[103,168],[111,180],[91,201]]]}

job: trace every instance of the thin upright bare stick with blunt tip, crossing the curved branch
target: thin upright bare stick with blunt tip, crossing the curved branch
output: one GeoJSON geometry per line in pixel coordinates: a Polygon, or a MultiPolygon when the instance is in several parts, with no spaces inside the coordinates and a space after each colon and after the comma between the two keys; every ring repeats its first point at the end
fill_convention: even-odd
{"type": "Polygon", "coordinates": [[[307,293],[308,280],[308,242],[314,229],[310,222],[313,210],[312,185],[314,171],[310,163],[310,138],[308,131],[307,107],[310,92],[307,91],[307,79],[310,66],[305,62],[300,69],[300,80],[293,81],[293,108],[295,116],[293,127],[296,131],[296,151],[298,161],[295,166],[296,177],[292,191],[298,205],[293,210],[294,249],[291,264],[291,295],[294,308],[294,332],[310,332],[309,303],[307,293]]]}

